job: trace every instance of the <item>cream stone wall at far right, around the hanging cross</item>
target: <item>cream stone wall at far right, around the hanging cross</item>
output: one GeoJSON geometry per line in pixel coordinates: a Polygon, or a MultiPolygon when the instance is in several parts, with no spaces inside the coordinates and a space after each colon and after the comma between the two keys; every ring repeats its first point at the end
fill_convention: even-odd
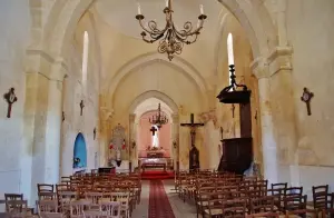
{"type": "MultiPolygon", "coordinates": [[[[286,27],[293,46],[293,86],[298,141],[295,162],[301,185],[334,185],[334,2],[287,1],[286,27]],[[307,116],[303,88],[314,92],[307,116]]],[[[333,188],[333,187],[332,187],[333,188]]]]}

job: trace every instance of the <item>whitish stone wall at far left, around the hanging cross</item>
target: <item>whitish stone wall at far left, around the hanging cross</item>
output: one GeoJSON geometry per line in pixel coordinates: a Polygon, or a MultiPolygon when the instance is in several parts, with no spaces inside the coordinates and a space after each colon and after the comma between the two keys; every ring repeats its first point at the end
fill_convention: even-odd
{"type": "Polygon", "coordinates": [[[0,1],[0,198],[3,192],[21,192],[24,106],[24,51],[30,40],[28,1],[0,1]],[[18,101],[7,116],[2,95],[13,87],[18,101]]]}

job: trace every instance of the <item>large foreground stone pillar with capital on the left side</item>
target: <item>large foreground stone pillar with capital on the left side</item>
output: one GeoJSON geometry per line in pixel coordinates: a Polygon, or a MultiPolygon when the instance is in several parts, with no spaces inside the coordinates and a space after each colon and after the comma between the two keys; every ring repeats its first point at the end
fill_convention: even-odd
{"type": "Polygon", "coordinates": [[[52,62],[39,53],[33,53],[28,60],[30,65],[27,66],[26,75],[26,149],[21,160],[21,178],[24,178],[24,185],[21,188],[30,204],[33,204],[37,199],[37,184],[59,181],[62,80],[67,69],[61,61],[52,62]],[[43,68],[40,69],[41,62],[43,68]],[[57,75],[52,76],[52,71],[57,71],[57,75]]]}

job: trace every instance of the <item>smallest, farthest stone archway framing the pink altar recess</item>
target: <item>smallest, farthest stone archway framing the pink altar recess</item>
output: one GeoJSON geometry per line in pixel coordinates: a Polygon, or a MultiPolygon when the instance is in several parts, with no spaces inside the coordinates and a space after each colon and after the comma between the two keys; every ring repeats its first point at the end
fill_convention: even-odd
{"type": "MultiPolygon", "coordinates": [[[[176,142],[176,148],[175,149],[175,159],[174,159],[174,166],[176,166],[176,170],[179,170],[179,117],[178,117],[178,106],[176,102],[167,95],[156,91],[156,90],[150,90],[146,91],[139,96],[137,96],[132,103],[130,105],[128,111],[129,111],[129,141],[136,140],[136,136],[134,132],[136,132],[136,109],[137,107],[144,102],[145,100],[149,98],[156,98],[164,103],[166,103],[170,110],[171,110],[171,141],[176,142]]],[[[131,151],[129,153],[131,156],[131,151]]],[[[138,157],[137,157],[138,158],[138,157]]],[[[130,157],[131,159],[131,157],[130,157]]],[[[134,159],[136,160],[136,159],[134,159]]],[[[131,162],[131,161],[130,161],[131,162]]],[[[130,167],[132,164],[130,164],[130,167]]],[[[131,168],[130,168],[131,169],[131,168]]]]}

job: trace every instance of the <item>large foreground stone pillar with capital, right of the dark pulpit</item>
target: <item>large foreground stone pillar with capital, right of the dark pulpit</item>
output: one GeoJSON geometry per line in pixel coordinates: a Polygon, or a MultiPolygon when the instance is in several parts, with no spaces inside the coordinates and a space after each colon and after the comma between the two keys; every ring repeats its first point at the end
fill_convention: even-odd
{"type": "Polygon", "coordinates": [[[258,79],[264,177],[269,182],[291,180],[296,146],[291,54],[288,47],[276,48],[252,63],[258,79]]]}

